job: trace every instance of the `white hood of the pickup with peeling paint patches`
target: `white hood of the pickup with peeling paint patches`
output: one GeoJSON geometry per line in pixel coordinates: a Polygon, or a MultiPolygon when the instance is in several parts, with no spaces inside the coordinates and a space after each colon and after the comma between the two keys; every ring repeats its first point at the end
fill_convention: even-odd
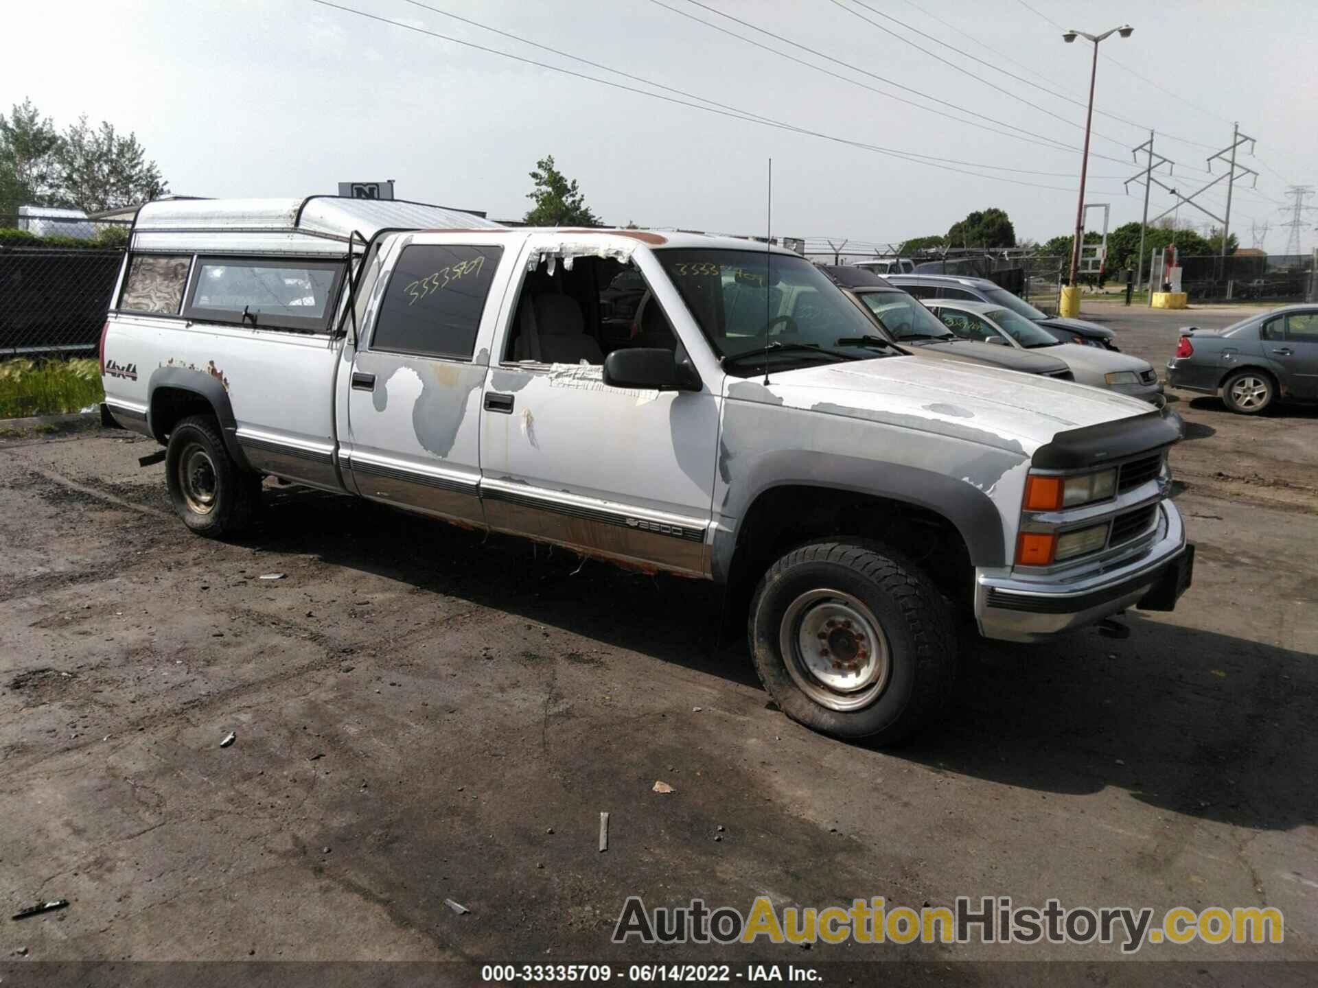
{"type": "MultiPolygon", "coordinates": [[[[1083,349],[1083,348],[1078,348],[1083,349]]],[[[844,415],[1032,454],[1058,432],[1147,415],[1135,398],[1068,381],[920,357],[726,378],[731,400],[844,415]]]]}

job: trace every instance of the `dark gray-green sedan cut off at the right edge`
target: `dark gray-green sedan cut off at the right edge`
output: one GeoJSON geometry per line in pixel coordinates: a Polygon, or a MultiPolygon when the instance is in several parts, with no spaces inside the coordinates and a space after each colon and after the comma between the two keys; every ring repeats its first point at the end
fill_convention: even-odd
{"type": "Polygon", "coordinates": [[[1318,399],[1318,306],[1284,306],[1226,329],[1186,327],[1166,362],[1172,387],[1220,394],[1240,415],[1318,399]]]}

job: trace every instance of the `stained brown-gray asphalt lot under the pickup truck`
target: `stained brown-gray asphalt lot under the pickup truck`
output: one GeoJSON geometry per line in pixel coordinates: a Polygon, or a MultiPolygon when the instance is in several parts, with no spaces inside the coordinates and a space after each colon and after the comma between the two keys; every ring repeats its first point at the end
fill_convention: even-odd
{"type": "MultiPolygon", "coordinates": [[[[1176,327],[1238,317],[1086,315],[1160,369],[1176,327]]],[[[170,514],[163,468],[138,468],[150,443],[0,440],[0,896],[71,902],[0,921],[0,959],[691,960],[612,946],[625,897],[767,893],[1273,905],[1284,945],[1139,956],[1315,960],[1318,414],[1174,397],[1198,543],[1181,606],[1126,640],[983,648],[941,730],[896,751],[768,707],[705,585],[297,489],[212,543],[170,514]]],[[[1118,951],[700,959],[807,956],[936,974],[1118,951]]]]}

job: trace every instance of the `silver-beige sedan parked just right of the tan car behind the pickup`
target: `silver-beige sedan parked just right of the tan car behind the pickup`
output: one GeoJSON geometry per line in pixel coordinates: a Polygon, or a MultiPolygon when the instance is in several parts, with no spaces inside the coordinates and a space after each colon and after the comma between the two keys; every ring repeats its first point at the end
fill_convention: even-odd
{"type": "Polygon", "coordinates": [[[1152,402],[1160,408],[1165,402],[1162,382],[1147,360],[1074,343],[1058,343],[1037,323],[987,302],[938,299],[925,304],[952,332],[965,340],[1043,350],[1066,364],[1077,383],[1120,391],[1152,402]]]}

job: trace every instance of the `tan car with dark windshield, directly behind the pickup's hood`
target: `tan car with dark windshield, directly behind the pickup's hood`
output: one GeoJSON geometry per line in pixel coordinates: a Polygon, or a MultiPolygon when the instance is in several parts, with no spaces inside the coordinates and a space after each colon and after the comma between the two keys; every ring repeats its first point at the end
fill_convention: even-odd
{"type": "Polygon", "coordinates": [[[1070,368],[1056,357],[1008,346],[963,340],[948,329],[924,304],[902,288],[844,288],[894,343],[921,357],[988,364],[1025,374],[1073,381],[1070,368]]]}

